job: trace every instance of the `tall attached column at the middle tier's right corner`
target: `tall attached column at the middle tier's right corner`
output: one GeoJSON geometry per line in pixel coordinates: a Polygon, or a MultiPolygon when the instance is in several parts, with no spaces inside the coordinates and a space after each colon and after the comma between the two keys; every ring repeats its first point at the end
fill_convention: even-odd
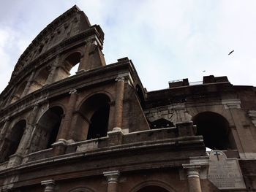
{"type": "Polygon", "coordinates": [[[115,118],[114,128],[121,129],[123,123],[123,107],[124,107],[124,77],[116,78],[116,105],[115,105],[115,118]]]}

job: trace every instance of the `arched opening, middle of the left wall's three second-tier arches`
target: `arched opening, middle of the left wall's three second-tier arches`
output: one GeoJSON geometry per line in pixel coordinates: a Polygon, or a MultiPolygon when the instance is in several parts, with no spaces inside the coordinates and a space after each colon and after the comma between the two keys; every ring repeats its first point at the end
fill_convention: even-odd
{"type": "Polygon", "coordinates": [[[61,107],[51,107],[42,115],[37,123],[30,152],[48,149],[56,142],[63,114],[61,107]]]}

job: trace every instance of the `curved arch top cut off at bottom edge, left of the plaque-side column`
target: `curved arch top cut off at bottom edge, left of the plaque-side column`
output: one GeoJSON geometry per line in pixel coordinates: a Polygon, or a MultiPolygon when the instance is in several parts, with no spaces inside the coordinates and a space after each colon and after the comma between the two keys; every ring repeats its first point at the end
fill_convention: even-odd
{"type": "Polygon", "coordinates": [[[148,180],[143,183],[139,183],[138,185],[135,185],[132,190],[129,192],[176,192],[170,185],[167,183],[164,183],[162,181],[157,181],[157,180],[148,180]],[[153,187],[153,191],[152,190],[153,187]],[[151,188],[151,189],[150,189],[151,188]],[[149,191],[147,191],[149,190],[149,191]],[[154,191],[158,190],[158,191],[154,191]]]}

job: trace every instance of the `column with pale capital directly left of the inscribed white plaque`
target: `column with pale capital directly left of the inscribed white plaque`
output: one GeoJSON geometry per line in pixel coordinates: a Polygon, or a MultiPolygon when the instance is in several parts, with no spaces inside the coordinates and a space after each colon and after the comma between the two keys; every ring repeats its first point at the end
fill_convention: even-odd
{"type": "Polygon", "coordinates": [[[189,185],[189,192],[202,192],[200,185],[200,166],[185,166],[187,169],[187,182],[189,185]]]}

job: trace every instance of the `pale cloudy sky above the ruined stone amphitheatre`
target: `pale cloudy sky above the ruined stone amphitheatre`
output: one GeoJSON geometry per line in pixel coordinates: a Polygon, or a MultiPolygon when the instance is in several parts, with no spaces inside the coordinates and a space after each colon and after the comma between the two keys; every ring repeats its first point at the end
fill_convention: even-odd
{"type": "Polygon", "coordinates": [[[40,31],[75,4],[105,32],[107,64],[132,60],[148,91],[227,76],[256,86],[255,0],[0,0],[0,92],[40,31]],[[234,52],[230,55],[231,50],[234,52]]]}

